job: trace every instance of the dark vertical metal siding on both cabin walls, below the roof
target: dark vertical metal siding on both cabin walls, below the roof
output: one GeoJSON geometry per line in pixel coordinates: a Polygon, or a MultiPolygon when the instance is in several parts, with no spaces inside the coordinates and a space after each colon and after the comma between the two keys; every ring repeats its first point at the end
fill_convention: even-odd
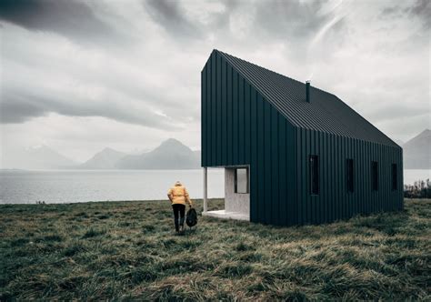
{"type": "Polygon", "coordinates": [[[202,166],[250,166],[251,221],[320,224],[403,207],[400,147],[293,126],[218,52],[201,79],[202,166]],[[310,195],[310,155],[319,156],[318,196],[310,195]],[[346,158],[354,159],[354,193],[346,190],[346,158]],[[377,192],[370,184],[373,160],[377,192]],[[397,191],[390,186],[393,163],[397,191]]]}

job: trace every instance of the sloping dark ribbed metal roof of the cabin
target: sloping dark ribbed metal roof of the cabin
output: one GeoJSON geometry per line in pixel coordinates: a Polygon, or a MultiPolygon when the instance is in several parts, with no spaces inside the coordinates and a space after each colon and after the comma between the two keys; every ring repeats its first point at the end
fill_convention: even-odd
{"type": "Polygon", "coordinates": [[[333,94],[310,87],[311,102],[306,102],[306,84],[282,76],[233,55],[215,50],[254,86],[266,100],[294,126],[339,136],[358,138],[387,146],[397,146],[333,94]]]}

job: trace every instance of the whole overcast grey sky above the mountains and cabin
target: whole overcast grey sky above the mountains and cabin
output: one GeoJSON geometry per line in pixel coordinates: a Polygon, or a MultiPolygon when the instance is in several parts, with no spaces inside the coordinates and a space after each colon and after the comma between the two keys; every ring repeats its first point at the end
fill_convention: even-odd
{"type": "Polygon", "coordinates": [[[2,0],[1,147],[84,161],[200,148],[217,48],[332,92],[386,135],[430,127],[431,1],[2,0]]]}

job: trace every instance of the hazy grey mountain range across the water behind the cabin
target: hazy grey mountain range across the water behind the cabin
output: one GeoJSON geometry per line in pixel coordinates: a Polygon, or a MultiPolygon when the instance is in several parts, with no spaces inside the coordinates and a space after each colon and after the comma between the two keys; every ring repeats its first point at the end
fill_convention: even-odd
{"type": "MultiPolygon", "coordinates": [[[[405,169],[431,169],[431,131],[424,130],[405,144],[405,169]]],[[[106,147],[85,163],[60,155],[49,146],[35,146],[13,154],[3,153],[3,168],[17,169],[193,169],[200,167],[200,151],[169,138],[154,150],[125,154],[106,147]]]]}

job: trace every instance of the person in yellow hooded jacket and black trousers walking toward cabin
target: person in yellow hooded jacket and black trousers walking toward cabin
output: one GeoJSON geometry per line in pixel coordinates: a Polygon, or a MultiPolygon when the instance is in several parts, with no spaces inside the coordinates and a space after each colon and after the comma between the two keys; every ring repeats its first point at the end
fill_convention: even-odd
{"type": "Polygon", "coordinates": [[[185,204],[192,207],[192,200],[188,196],[187,189],[180,181],[176,181],[175,185],[169,189],[167,197],[171,201],[174,210],[175,231],[176,233],[182,233],[184,231],[185,204]]]}

